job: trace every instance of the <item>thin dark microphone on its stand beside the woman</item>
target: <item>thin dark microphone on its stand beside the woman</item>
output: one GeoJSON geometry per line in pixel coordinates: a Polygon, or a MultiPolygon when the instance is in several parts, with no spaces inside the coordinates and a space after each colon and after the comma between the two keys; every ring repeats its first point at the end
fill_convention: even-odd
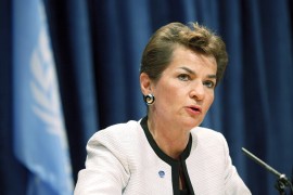
{"type": "Polygon", "coordinates": [[[273,173],[276,177],[278,177],[277,182],[275,184],[275,187],[279,191],[280,195],[285,195],[285,188],[289,187],[291,191],[291,195],[293,195],[293,187],[291,181],[285,177],[285,174],[278,172],[276,169],[260,160],[258,157],[253,155],[251,152],[242,147],[242,152],[249,156],[251,159],[253,159],[255,162],[273,173]]]}

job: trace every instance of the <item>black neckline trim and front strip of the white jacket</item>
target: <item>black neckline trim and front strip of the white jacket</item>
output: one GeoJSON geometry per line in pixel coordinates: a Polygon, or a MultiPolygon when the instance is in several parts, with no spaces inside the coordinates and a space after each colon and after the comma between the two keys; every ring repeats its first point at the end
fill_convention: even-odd
{"type": "Polygon", "coordinates": [[[166,155],[156,144],[148,127],[148,116],[141,120],[140,125],[153,151],[162,160],[171,167],[171,183],[174,195],[194,195],[186,165],[186,159],[189,157],[192,145],[191,134],[189,136],[188,145],[180,155],[179,159],[174,159],[166,155]],[[183,180],[183,190],[179,188],[179,177],[181,177],[181,180],[183,180]]]}

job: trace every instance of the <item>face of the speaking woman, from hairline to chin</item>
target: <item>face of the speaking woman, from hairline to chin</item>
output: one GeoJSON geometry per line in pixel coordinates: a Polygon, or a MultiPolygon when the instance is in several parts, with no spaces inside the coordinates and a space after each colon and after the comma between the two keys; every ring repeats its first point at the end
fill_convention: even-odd
{"type": "Polygon", "coordinates": [[[199,126],[214,101],[217,64],[213,56],[178,47],[157,82],[151,82],[152,116],[190,130],[199,126]]]}

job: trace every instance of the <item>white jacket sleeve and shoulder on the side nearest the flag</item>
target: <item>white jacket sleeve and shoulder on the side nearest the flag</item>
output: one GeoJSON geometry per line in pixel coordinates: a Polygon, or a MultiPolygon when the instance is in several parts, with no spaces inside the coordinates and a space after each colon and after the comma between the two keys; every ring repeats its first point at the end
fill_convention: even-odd
{"type": "Polygon", "coordinates": [[[140,129],[139,121],[130,120],[95,132],[88,141],[86,169],[78,173],[75,193],[120,193],[130,177],[131,139],[138,138],[135,134],[139,134],[140,129]]]}

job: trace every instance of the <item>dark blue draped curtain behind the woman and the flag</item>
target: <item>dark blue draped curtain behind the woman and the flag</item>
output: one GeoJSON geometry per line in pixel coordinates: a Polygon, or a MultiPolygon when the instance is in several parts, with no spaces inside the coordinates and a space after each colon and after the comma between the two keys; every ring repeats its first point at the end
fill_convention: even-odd
{"type": "MultiPolygon", "coordinates": [[[[15,23],[20,23],[15,15],[30,13],[28,8],[35,2],[0,0],[0,194],[25,194],[31,174],[14,153],[15,113],[20,110],[13,101],[17,94],[13,73],[15,62],[20,61],[15,48],[27,38],[25,30],[15,28],[15,23]],[[17,3],[23,3],[17,8],[21,11],[16,10],[17,3]],[[15,35],[21,36],[16,42],[15,35]]],[[[253,194],[276,194],[276,178],[245,157],[242,146],[291,177],[291,0],[39,2],[46,9],[73,180],[84,167],[85,146],[92,133],[145,115],[139,89],[139,64],[152,32],[169,22],[190,21],[221,35],[230,60],[203,126],[225,134],[233,164],[253,194]]],[[[31,28],[29,22],[23,25],[31,28]]]]}

